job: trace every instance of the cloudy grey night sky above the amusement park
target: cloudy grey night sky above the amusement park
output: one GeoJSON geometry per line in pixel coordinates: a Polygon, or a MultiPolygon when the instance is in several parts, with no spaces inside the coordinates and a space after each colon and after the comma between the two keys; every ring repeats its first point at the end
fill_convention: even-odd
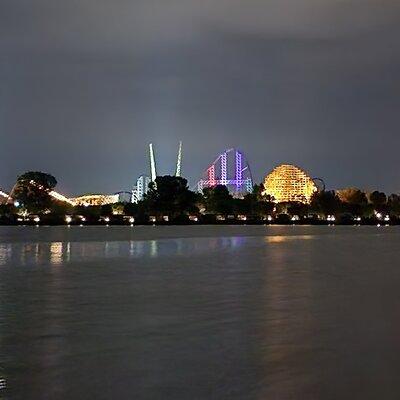
{"type": "Polygon", "coordinates": [[[238,147],[400,192],[399,38],[399,0],[0,0],[0,187],[130,189],[182,140],[191,184],[238,147]]]}

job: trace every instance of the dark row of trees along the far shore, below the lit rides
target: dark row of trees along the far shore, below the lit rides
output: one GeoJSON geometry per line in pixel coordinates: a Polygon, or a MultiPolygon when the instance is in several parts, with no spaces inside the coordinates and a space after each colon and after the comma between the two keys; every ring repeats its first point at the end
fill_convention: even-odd
{"type": "Polygon", "coordinates": [[[380,220],[397,223],[400,196],[380,191],[365,193],[357,188],[316,192],[310,204],[275,203],[263,194],[263,185],[242,198],[233,197],[225,186],[206,188],[202,193],[189,189],[185,178],[159,176],[150,183],[142,201],[103,206],[72,206],[50,195],[57,180],[42,172],[27,172],[18,177],[12,202],[0,205],[0,222],[17,223],[32,215],[48,223],[99,223],[101,221],[135,223],[188,223],[247,221],[254,223],[337,223],[380,220]]]}

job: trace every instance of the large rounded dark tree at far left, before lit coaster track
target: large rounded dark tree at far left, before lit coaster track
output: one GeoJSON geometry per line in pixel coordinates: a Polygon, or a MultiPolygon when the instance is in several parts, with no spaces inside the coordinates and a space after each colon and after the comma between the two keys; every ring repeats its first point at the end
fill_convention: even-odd
{"type": "Polygon", "coordinates": [[[12,197],[27,212],[40,213],[51,207],[53,198],[49,192],[56,185],[56,178],[50,174],[37,171],[26,172],[18,177],[12,197]]]}

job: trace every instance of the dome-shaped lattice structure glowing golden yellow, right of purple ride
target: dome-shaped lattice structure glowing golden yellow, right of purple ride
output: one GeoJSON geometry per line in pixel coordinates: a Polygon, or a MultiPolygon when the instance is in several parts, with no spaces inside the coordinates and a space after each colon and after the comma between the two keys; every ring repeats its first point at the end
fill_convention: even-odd
{"type": "Polygon", "coordinates": [[[295,165],[279,165],[264,181],[264,195],[271,196],[277,203],[309,203],[316,191],[317,186],[312,178],[295,165]]]}

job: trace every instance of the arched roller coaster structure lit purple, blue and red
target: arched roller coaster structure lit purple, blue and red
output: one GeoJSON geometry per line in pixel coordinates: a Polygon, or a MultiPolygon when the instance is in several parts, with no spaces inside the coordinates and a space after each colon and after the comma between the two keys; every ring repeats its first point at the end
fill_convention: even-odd
{"type": "Polygon", "coordinates": [[[250,166],[243,153],[237,149],[228,149],[221,153],[206,169],[197,183],[197,190],[226,186],[236,197],[241,197],[253,190],[253,177],[250,166]]]}

